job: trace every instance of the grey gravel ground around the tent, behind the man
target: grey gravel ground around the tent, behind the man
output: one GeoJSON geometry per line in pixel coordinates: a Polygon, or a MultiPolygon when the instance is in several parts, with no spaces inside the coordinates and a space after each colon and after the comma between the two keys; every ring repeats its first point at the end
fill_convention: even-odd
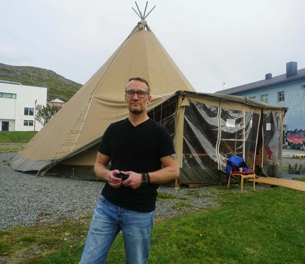
{"type": "MultiPolygon", "coordinates": [[[[104,187],[101,181],[72,180],[54,176],[36,176],[32,172],[14,171],[7,160],[12,153],[0,153],[0,229],[6,230],[18,225],[33,225],[62,218],[78,219],[86,213],[93,213],[95,205],[104,187]]],[[[304,159],[283,158],[283,167],[291,164],[303,164],[304,159]]],[[[305,166],[303,164],[303,166],[305,166]]],[[[281,178],[297,179],[304,175],[282,172],[281,178]]],[[[256,190],[268,187],[256,185],[256,190]]],[[[217,190],[217,188],[214,188],[217,190]]],[[[230,188],[236,192],[240,188],[230,188]]],[[[251,190],[245,186],[244,190],[251,190]]],[[[220,190],[221,191],[221,190],[220,190]]],[[[208,187],[180,190],[162,185],[158,192],[174,195],[176,198],[157,201],[155,221],[181,215],[189,211],[200,211],[218,205],[213,189],[208,187]]]]}

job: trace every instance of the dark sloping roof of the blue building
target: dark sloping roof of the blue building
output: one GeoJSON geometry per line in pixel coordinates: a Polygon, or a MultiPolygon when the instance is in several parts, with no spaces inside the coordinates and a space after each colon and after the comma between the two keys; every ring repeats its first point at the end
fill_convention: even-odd
{"type": "Polygon", "coordinates": [[[256,81],[256,82],[248,83],[245,85],[221,90],[221,91],[215,92],[215,94],[236,95],[239,93],[250,92],[252,90],[266,88],[266,87],[279,85],[279,84],[291,82],[291,81],[297,81],[297,80],[301,80],[301,79],[305,79],[305,68],[298,70],[297,74],[290,76],[288,78],[286,77],[286,73],[285,73],[285,74],[282,74],[279,76],[272,77],[270,79],[256,81]]]}

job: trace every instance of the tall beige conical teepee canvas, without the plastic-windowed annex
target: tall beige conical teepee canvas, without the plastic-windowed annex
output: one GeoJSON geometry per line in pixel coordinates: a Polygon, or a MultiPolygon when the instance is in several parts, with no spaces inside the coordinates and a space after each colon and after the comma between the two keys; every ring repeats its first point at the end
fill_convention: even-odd
{"type": "MultiPolygon", "coordinates": [[[[69,175],[77,167],[76,178],[94,177],[96,145],[110,123],[128,117],[124,87],[134,76],[145,78],[151,86],[149,109],[175,91],[195,91],[142,19],[106,63],[9,161],[12,168],[42,172],[59,163],[71,165],[69,175]]],[[[61,171],[64,174],[65,169],[61,171]]]]}

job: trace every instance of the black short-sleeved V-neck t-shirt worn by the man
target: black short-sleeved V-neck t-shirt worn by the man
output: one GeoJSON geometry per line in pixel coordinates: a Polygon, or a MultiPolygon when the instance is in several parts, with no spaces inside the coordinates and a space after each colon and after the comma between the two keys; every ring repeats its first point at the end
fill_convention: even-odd
{"type": "MultiPolygon", "coordinates": [[[[153,172],[161,169],[160,158],[175,154],[168,130],[148,119],[134,127],[128,118],[110,124],[98,151],[111,157],[110,170],[153,172]]],[[[101,194],[114,205],[138,212],[155,210],[158,184],[132,189],[105,184],[101,194]]]]}

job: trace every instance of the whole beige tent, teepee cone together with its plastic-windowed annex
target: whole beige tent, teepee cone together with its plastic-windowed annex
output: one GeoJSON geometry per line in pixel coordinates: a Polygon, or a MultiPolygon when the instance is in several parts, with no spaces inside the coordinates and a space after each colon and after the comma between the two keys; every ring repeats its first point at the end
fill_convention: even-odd
{"type": "Polygon", "coordinates": [[[145,20],[9,161],[12,168],[40,173],[51,168],[65,177],[95,179],[93,165],[101,136],[110,123],[128,117],[124,86],[134,76],[149,82],[149,116],[173,136],[181,167],[175,186],[223,182],[230,155],[242,156],[254,168],[260,163],[265,175],[278,176],[287,108],[233,95],[196,93],[145,20]]]}

